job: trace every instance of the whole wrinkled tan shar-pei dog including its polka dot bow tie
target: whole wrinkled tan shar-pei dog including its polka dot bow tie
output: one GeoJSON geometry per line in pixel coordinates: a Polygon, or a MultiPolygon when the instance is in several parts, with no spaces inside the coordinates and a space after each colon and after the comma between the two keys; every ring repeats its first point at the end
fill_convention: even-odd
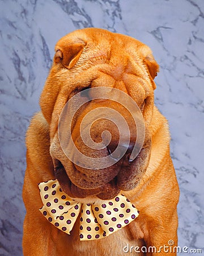
{"type": "Polygon", "coordinates": [[[130,36],[85,28],[58,41],[26,136],[24,255],[176,255],[158,71],[130,36]]]}

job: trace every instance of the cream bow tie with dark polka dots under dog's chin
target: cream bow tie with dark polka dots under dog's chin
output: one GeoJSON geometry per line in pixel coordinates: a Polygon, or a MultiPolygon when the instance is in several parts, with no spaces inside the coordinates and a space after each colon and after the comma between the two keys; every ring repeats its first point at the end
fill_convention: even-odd
{"type": "Polygon", "coordinates": [[[119,194],[103,204],[82,204],[67,196],[57,180],[39,184],[44,206],[40,212],[63,232],[70,234],[80,214],[80,240],[96,240],[109,236],[138,217],[138,210],[119,194]]]}

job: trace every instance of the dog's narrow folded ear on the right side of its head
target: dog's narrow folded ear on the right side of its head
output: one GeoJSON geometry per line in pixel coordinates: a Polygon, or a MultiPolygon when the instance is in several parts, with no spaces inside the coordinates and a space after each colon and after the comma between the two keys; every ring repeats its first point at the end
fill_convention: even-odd
{"type": "Polygon", "coordinates": [[[143,63],[146,65],[147,71],[150,73],[153,88],[156,88],[155,82],[153,81],[159,72],[159,64],[154,59],[151,49],[142,44],[138,47],[139,55],[142,58],[143,63]]]}

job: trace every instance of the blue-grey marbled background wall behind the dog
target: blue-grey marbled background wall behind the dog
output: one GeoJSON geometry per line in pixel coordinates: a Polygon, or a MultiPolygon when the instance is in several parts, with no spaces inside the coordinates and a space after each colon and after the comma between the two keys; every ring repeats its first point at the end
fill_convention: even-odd
{"type": "Polygon", "coordinates": [[[22,255],[24,137],[54,45],[83,27],[127,34],[152,48],[160,64],[155,103],[169,120],[181,190],[179,245],[203,249],[204,1],[0,0],[0,6],[0,255],[22,255]]]}

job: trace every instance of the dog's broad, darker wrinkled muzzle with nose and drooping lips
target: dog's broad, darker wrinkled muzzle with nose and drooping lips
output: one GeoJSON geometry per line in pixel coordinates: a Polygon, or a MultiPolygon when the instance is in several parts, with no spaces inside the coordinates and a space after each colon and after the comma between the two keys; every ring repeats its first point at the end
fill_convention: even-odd
{"type": "Polygon", "coordinates": [[[135,188],[147,168],[151,148],[142,113],[134,113],[135,102],[132,109],[130,104],[132,113],[115,100],[91,101],[78,112],[75,102],[61,114],[50,147],[63,191],[70,197],[112,199],[121,190],[135,188]],[[70,113],[76,114],[74,122],[67,119],[70,113]]]}

